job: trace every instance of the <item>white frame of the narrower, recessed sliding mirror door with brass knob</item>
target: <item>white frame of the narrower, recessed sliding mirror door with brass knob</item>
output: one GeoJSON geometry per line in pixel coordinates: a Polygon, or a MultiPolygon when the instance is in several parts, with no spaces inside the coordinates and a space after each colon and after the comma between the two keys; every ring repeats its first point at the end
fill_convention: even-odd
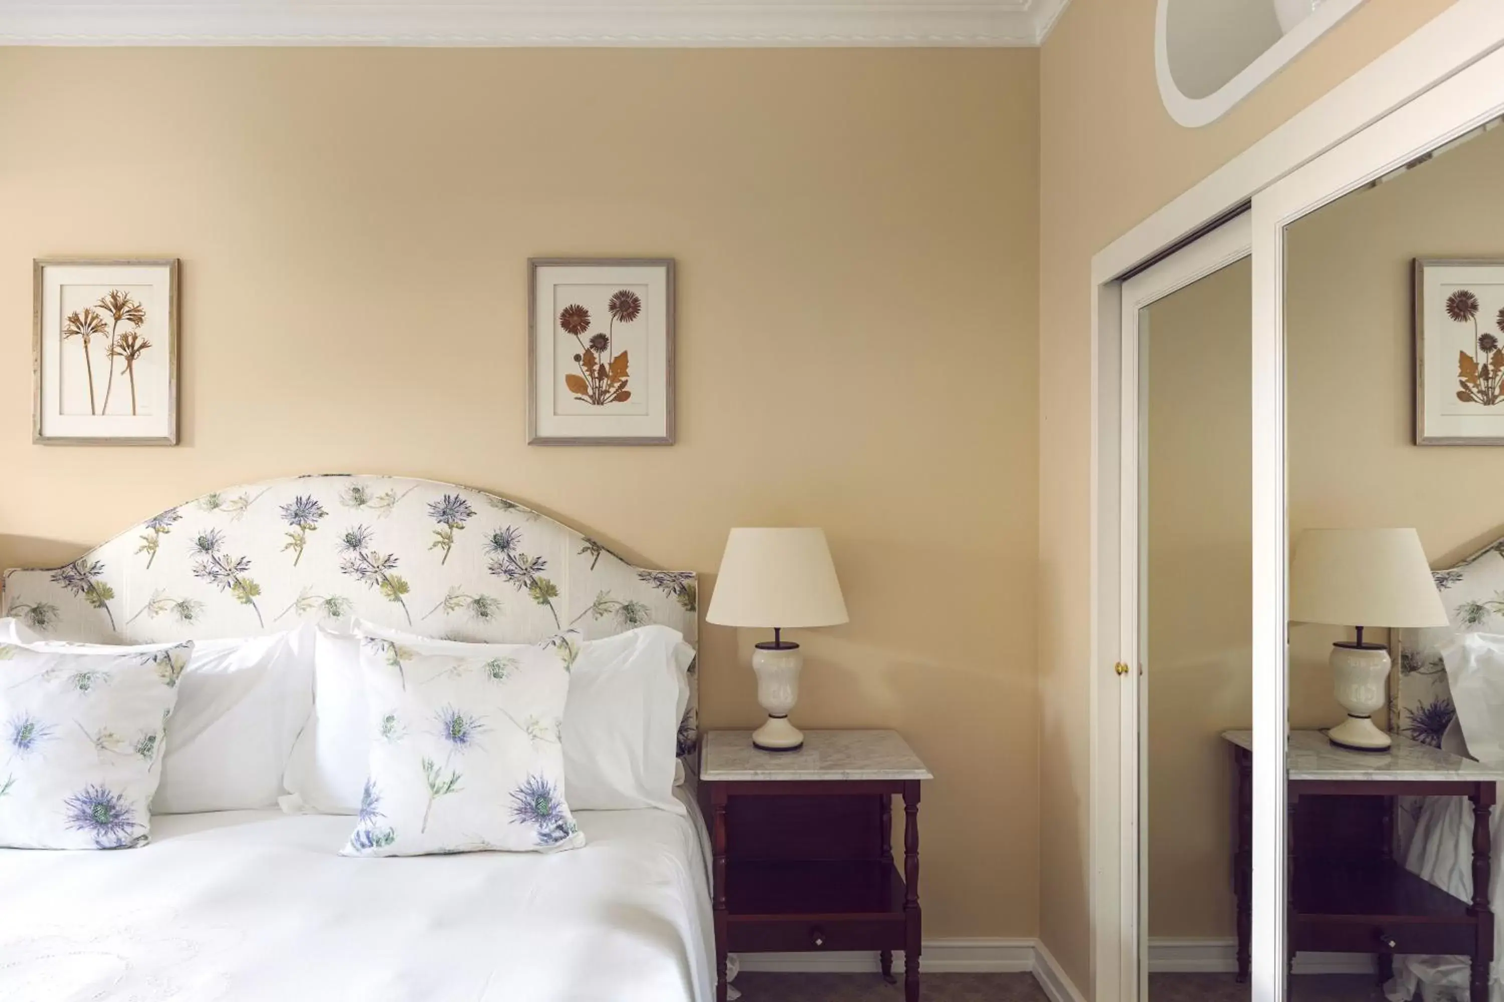
{"type": "MultiPolygon", "coordinates": [[[[1143,497],[1148,487],[1140,479],[1145,461],[1148,430],[1148,400],[1143,397],[1143,349],[1148,346],[1148,330],[1143,324],[1143,308],[1155,300],[1197,282],[1253,252],[1253,218],[1244,212],[1194,243],[1178,249],[1170,257],[1145,269],[1122,282],[1120,315],[1122,352],[1119,358],[1119,523],[1122,539],[1143,539],[1143,497]]],[[[1145,644],[1145,568],[1139,559],[1139,547],[1122,548],[1117,593],[1119,635],[1128,673],[1119,687],[1122,700],[1117,711],[1119,768],[1117,789],[1123,810],[1120,817],[1120,900],[1123,901],[1122,963],[1119,982],[1139,985],[1140,997],[1148,994],[1148,882],[1143,879],[1143,859],[1148,835],[1145,822],[1145,768],[1143,723],[1146,703],[1143,699],[1143,644],[1145,644]]]]}

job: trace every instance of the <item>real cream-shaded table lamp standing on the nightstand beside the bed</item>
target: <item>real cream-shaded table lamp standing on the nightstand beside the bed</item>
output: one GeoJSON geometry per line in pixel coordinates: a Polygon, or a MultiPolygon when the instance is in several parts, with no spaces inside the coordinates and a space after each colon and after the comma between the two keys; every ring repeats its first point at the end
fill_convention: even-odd
{"type": "Polygon", "coordinates": [[[847,622],[824,530],[732,529],[705,622],[773,629],[773,640],[757,644],[752,655],[757,699],[767,711],[752,744],[769,751],[802,747],[805,735],[788,723],[788,714],[799,700],[803,655],[797,643],[784,640],[784,628],[847,622]]]}

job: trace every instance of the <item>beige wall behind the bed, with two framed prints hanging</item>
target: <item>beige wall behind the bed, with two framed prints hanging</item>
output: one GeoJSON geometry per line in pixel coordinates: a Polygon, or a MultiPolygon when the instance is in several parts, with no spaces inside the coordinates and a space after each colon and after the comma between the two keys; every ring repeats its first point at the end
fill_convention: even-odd
{"type": "MultiPolygon", "coordinates": [[[[0,563],[245,479],[504,491],[713,574],[830,535],[803,726],[896,727],[929,936],[1038,915],[1038,53],[0,50],[0,563]],[[182,258],[176,449],[30,443],[32,258],[182,258]],[[523,445],[528,255],[678,260],[680,443],[523,445]]],[[[704,631],[704,720],[758,718],[704,631]]]]}

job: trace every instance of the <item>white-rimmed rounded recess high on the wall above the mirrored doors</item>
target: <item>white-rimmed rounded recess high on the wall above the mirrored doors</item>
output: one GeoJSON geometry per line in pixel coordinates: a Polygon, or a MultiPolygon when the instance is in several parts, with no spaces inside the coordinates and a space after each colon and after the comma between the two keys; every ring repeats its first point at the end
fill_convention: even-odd
{"type": "Polygon", "coordinates": [[[1158,0],[1154,66],[1166,110],[1190,128],[1215,122],[1360,3],[1158,0]]]}

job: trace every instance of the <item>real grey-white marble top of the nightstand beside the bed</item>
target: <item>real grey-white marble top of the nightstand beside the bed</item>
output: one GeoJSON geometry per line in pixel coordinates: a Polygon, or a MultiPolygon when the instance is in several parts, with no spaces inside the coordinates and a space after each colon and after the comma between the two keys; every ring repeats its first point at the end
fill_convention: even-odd
{"type": "Polygon", "coordinates": [[[744,783],[934,777],[896,730],[806,730],[799,751],[755,748],[750,730],[711,730],[701,741],[699,778],[744,783]]]}

